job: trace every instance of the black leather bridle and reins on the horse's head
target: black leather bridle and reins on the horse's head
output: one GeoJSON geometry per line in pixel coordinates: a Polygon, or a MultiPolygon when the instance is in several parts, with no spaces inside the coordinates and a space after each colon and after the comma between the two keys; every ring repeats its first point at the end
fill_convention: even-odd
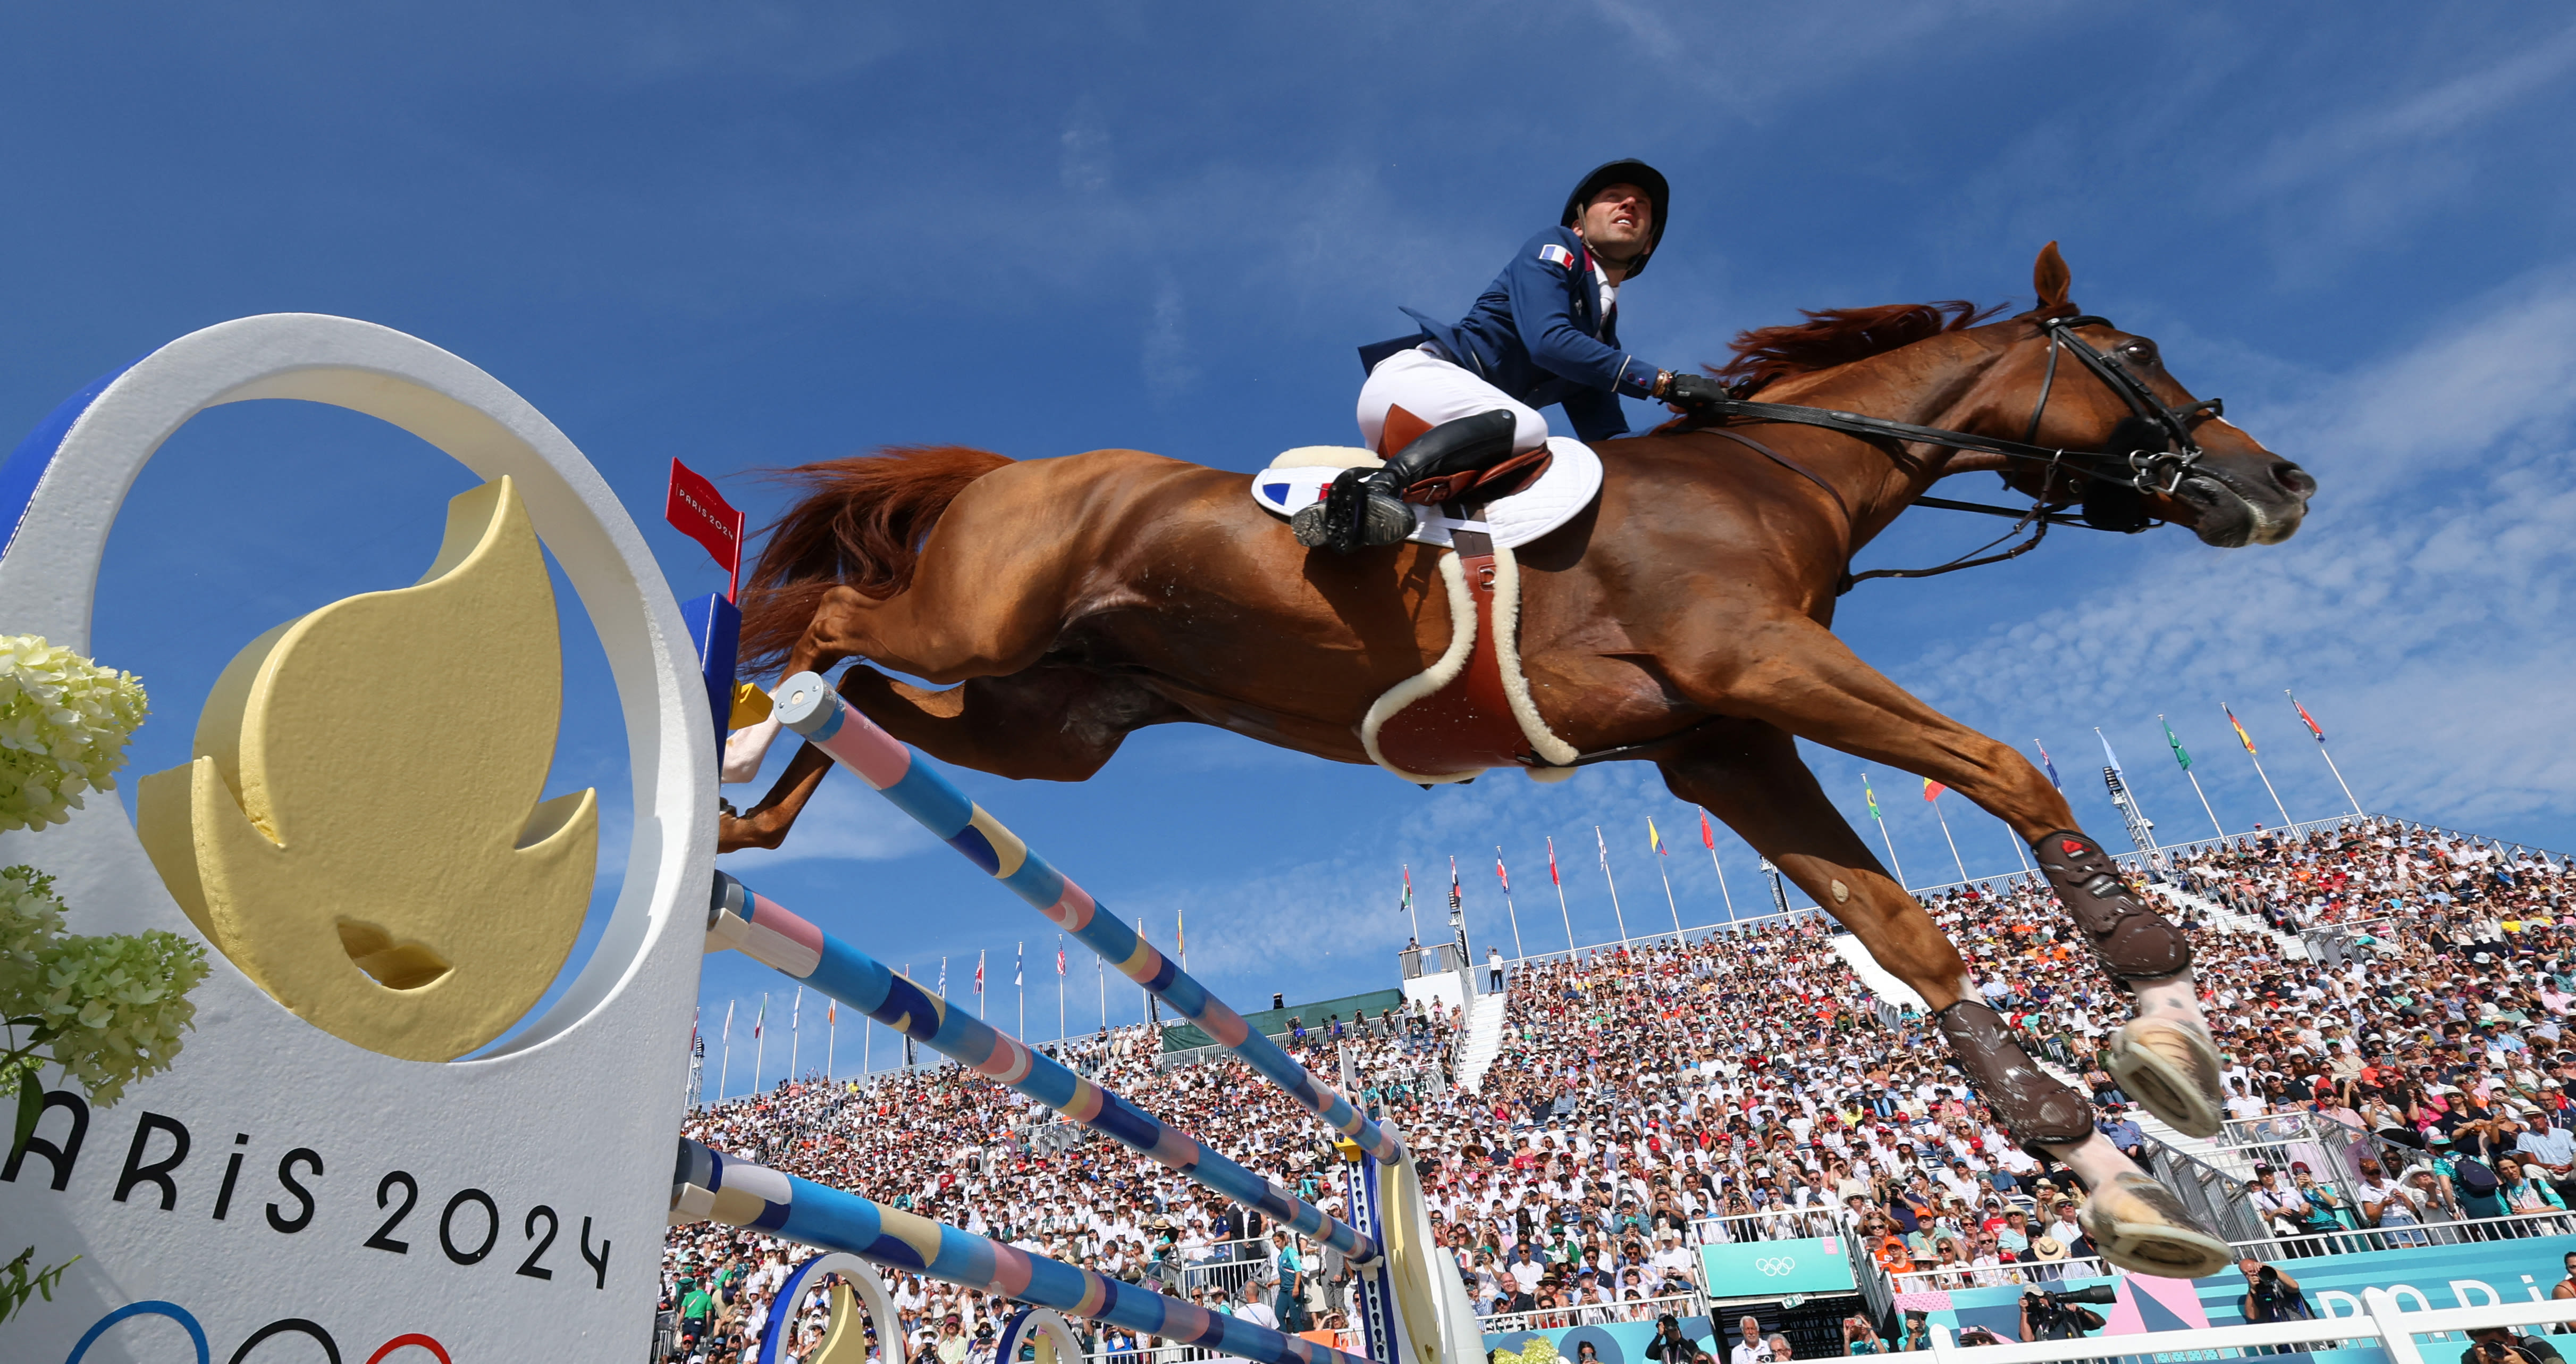
{"type": "MultiPolygon", "coordinates": [[[[2040,477],[2040,492],[2032,498],[2027,511],[1996,508],[1986,503],[1953,503],[1947,498],[1914,498],[1914,505],[1942,508],[1942,511],[1973,511],[1986,516],[2012,516],[2014,523],[2002,536],[1945,565],[1873,567],[1857,575],[1844,572],[1834,585],[1834,596],[1842,596],[1870,578],[1932,578],[1940,572],[1958,572],[1963,567],[2017,560],[2038,549],[2040,539],[2048,536],[2050,526],[2084,526],[2092,531],[2128,531],[2128,534],[2154,526],[2154,521],[2143,511],[2143,498],[2148,492],[2172,495],[2174,490],[2182,487],[2182,480],[2192,474],[2192,469],[2200,464],[2202,456],[2200,441],[2192,438],[2192,420],[2200,415],[2215,418],[2226,413],[2226,405],[2210,397],[2182,407],[2166,407],[2161,400],[2156,400],[2156,392],[2146,387],[2146,379],[2141,379],[2136,371],[2120,364],[2117,356],[2094,351],[2084,338],[2074,335],[2074,327],[2087,327],[2087,325],[2110,327],[2110,320],[2105,317],[2094,315],[2043,317],[2038,325],[2040,330],[2048,333],[2048,369],[2040,376],[2040,397],[2030,407],[2030,423],[2022,431],[2020,441],[2007,441],[2002,436],[1978,436],[1973,431],[1947,431],[1940,425],[1914,425],[1904,420],[1870,418],[1862,413],[1842,413],[1834,407],[1754,402],[1747,397],[1726,397],[1718,402],[1708,402],[1698,413],[1692,413],[1692,418],[1741,418],[1752,423],[1819,425],[1824,431],[1860,436],[1880,449],[1886,449],[1886,441],[1899,441],[1899,443],[1942,446],[1942,449],[1960,449],[1978,454],[1999,454],[2020,464],[2045,467],[2045,474],[2040,477]],[[2074,449],[2032,443],[2040,433],[2040,418],[2048,413],[2048,397],[2058,382],[2061,351],[2071,353],[2084,369],[2089,369],[2097,379],[2102,379],[2102,384],[2110,387],[2110,392],[2115,392],[2130,410],[2130,415],[2123,418],[2120,425],[2115,425],[2110,436],[2102,441],[2105,449],[2074,451],[2074,449]],[[2148,443],[2159,449],[2148,449],[2148,443]],[[2128,449],[2123,451],[2120,446],[2128,449]],[[2066,516],[2061,511],[2069,505],[2066,500],[2056,503],[2048,500],[2048,492],[2056,487],[2058,472],[2071,472],[2084,477],[2087,495],[2081,516],[2066,516]],[[2030,529],[2030,539],[1999,554],[1984,554],[1986,549],[1994,549],[1996,544],[2022,534],[2022,529],[2030,529]]],[[[1806,477],[1808,482],[1821,487],[1826,498],[1834,500],[1834,505],[1842,511],[1844,526],[1855,523],[1852,505],[1842,498],[1842,490],[1837,490],[1832,482],[1826,482],[1806,464],[1798,464],[1795,459],[1765,446],[1762,441],[1754,441],[1752,436],[1744,436],[1723,425],[1703,425],[1695,431],[1736,441],[1739,446],[1762,454],[1772,464],[1780,464],[1783,469],[1806,477]]]]}

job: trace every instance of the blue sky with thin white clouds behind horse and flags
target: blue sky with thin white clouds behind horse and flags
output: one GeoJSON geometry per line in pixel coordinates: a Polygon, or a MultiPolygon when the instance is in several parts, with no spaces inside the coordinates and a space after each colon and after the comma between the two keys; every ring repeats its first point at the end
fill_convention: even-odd
{"type": "MultiPolygon", "coordinates": [[[[2123,843],[2094,725],[2166,833],[2205,830],[2159,712],[2226,828],[2277,820],[2221,701],[2293,817],[2334,812],[2295,686],[2365,804],[2576,848],[2571,67],[2563,13],[2483,5],[15,8],[0,428],[201,325],[366,317],[536,402],[696,596],[716,572],[654,516],[672,456],[721,477],[956,441],[1249,469],[1347,441],[1352,346],[1396,335],[1396,304],[1463,309],[1571,178],[1638,155],[1674,180],[1620,299],[1656,364],[1798,307],[2027,302],[2056,237],[2081,304],[2318,477],[2287,547],[2069,534],[1844,601],[1893,678],[2048,743],[2094,833],[2123,843]]],[[[417,575],[464,485],[345,413],[185,428],[100,588],[100,658],[160,704],[134,771],[185,758],[252,634],[417,575]]],[[[1919,513],[1862,565],[1984,534],[1919,513]]],[[[605,678],[577,619],[567,642],[556,789],[598,784],[616,843],[605,678]]],[[[1862,817],[1862,768],[1814,761],[1862,817]]],[[[1471,931],[1510,939],[1497,843],[1533,949],[1564,939],[1546,835],[1577,939],[1615,936],[1592,825],[1631,926],[1669,923],[1649,815],[1680,915],[1723,913],[1692,812],[1643,766],[1425,794],[1167,727],[1084,786],[961,781],[1157,939],[1188,910],[1193,967],[1249,1003],[1391,982],[1399,864],[1432,902],[1458,856],[1471,931]]],[[[1911,879],[1947,879],[1917,784],[1873,781],[1911,879]]],[[[1007,982],[1025,941],[1051,1031],[1054,931],[845,779],[827,792],[737,872],[925,980],[945,954],[961,985],[987,949],[1007,982]]],[[[2002,825],[1942,804],[1968,872],[2014,866],[2002,825]]],[[[1749,853],[1721,835],[1718,856],[1754,900],[1749,853]]],[[[1079,1026],[1087,962],[1074,982],[1079,1026]]],[[[708,962],[719,1011],[762,988],[708,962]]],[[[1113,1021],[1136,1008],[1113,990],[1113,1021]]]]}

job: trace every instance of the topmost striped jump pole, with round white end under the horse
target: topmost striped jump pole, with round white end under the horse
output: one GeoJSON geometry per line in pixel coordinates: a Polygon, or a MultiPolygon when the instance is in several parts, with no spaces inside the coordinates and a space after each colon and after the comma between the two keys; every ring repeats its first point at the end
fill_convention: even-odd
{"type": "Polygon", "coordinates": [[[788,730],[796,730],[835,763],[858,774],[876,794],[940,835],[943,843],[966,853],[966,861],[974,861],[1020,900],[1036,905],[1056,928],[1082,939],[1082,946],[1097,951],[1121,975],[1151,990],[1182,1018],[1198,1024],[1244,1065],[1288,1091],[1288,1098],[1296,1098],[1306,1111],[1324,1119],[1324,1127],[1350,1137],[1381,1163],[1391,1165],[1404,1158],[1404,1145],[1391,1132],[1368,1122],[1368,1114],[1355,1109],[1350,1098],[1342,1098],[1332,1086],[1309,1075],[1303,1065],[1288,1060],[1288,1052],[1278,1042],[1252,1031],[1234,1006],[1211,995],[1206,985],[1180,969],[1180,962],[1157,951],[1123,918],[1108,913],[1064,872],[1048,866],[1043,856],[1002,828],[1002,820],[987,815],[984,807],[966,799],[966,792],[958,792],[953,781],[933,771],[904,740],[858,714],[819,673],[796,673],[778,683],[778,691],[770,696],[778,719],[788,730]]]}

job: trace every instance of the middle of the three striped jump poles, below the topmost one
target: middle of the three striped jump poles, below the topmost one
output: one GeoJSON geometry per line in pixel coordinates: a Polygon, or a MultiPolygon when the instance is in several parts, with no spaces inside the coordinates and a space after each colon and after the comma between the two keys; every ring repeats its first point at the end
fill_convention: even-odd
{"type": "Polygon", "coordinates": [[[1074,1075],[1043,1052],[1030,1049],[1028,1042],[984,1024],[974,1013],[948,1008],[948,1000],[940,995],[894,975],[884,962],[783,910],[768,895],[724,872],[716,872],[716,892],[706,908],[706,946],[708,951],[732,946],[760,964],[778,967],[781,975],[804,982],[809,990],[822,990],[878,1024],[922,1042],[933,1052],[956,1057],[979,1075],[1002,1080],[1082,1127],[1216,1189],[1242,1207],[1260,1209],[1275,1225],[1332,1245],[1352,1263],[1368,1266],[1378,1258],[1378,1245],[1347,1222],[1327,1217],[1324,1209],[1306,1199],[1226,1160],[1208,1142],[1074,1075]]]}

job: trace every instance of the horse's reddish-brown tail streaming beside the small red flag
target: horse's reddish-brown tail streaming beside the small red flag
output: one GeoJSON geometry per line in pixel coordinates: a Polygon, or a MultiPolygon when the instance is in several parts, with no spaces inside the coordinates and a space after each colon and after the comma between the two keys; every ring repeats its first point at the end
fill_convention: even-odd
{"type": "Polygon", "coordinates": [[[966,446],[886,446],[781,469],[804,495],[768,529],[742,585],[744,676],[775,668],[837,585],[889,598],[912,585],[922,539],[966,485],[1010,464],[966,446]]]}

